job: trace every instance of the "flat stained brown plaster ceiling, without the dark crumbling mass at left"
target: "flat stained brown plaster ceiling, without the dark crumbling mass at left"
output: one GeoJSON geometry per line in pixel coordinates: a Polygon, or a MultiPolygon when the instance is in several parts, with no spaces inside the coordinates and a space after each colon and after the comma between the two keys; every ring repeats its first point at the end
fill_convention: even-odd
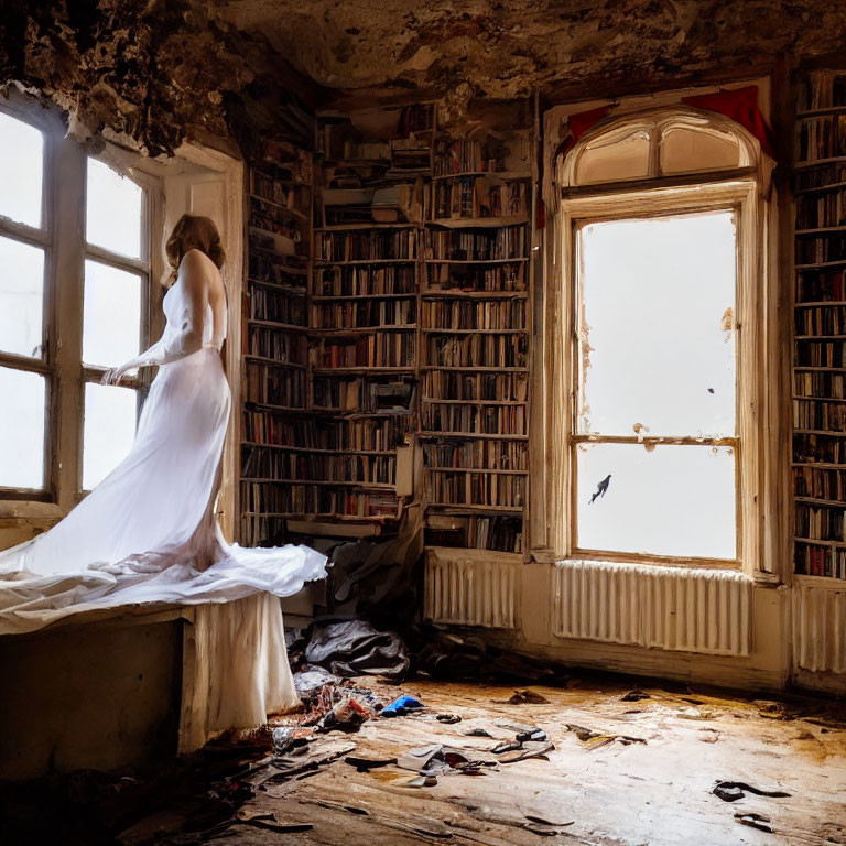
{"type": "Polygon", "coordinates": [[[377,96],[457,83],[492,98],[575,93],[846,43],[836,0],[225,0],[214,17],[264,32],[323,86],[377,96]]]}

